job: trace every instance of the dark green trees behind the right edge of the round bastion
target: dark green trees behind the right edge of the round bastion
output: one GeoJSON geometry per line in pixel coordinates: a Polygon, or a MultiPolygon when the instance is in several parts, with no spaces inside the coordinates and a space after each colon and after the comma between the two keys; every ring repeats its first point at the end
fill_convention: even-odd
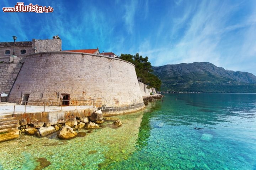
{"type": "Polygon", "coordinates": [[[148,61],[147,56],[143,58],[139,53],[136,53],[134,56],[130,54],[121,54],[120,59],[134,64],[137,77],[142,79],[142,83],[160,90],[162,84],[161,80],[152,74],[152,66],[148,61]]]}

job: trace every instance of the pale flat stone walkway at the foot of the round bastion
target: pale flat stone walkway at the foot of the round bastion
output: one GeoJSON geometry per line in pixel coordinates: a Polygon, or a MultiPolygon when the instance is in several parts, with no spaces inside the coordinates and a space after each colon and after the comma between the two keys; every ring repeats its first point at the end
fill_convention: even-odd
{"type": "MultiPolygon", "coordinates": [[[[22,114],[25,112],[24,105],[18,105],[16,103],[7,103],[1,102],[0,103],[0,115],[9,115],[14,113],[14,106],[15,106],[15,114],[22,114]]],[[[77,110],[81,109],[88,109],[89,106],[76,106],[77,110]]],[[[92,108],[92,106],[90,106],[92,108]]],[[[75,106],[62,106],[62,111],[74,111],[75,106]]],[[[26,113],[38,113],[38,112],[56,112],[60,111],[60,106],[26,106],[26,113]]]]}

